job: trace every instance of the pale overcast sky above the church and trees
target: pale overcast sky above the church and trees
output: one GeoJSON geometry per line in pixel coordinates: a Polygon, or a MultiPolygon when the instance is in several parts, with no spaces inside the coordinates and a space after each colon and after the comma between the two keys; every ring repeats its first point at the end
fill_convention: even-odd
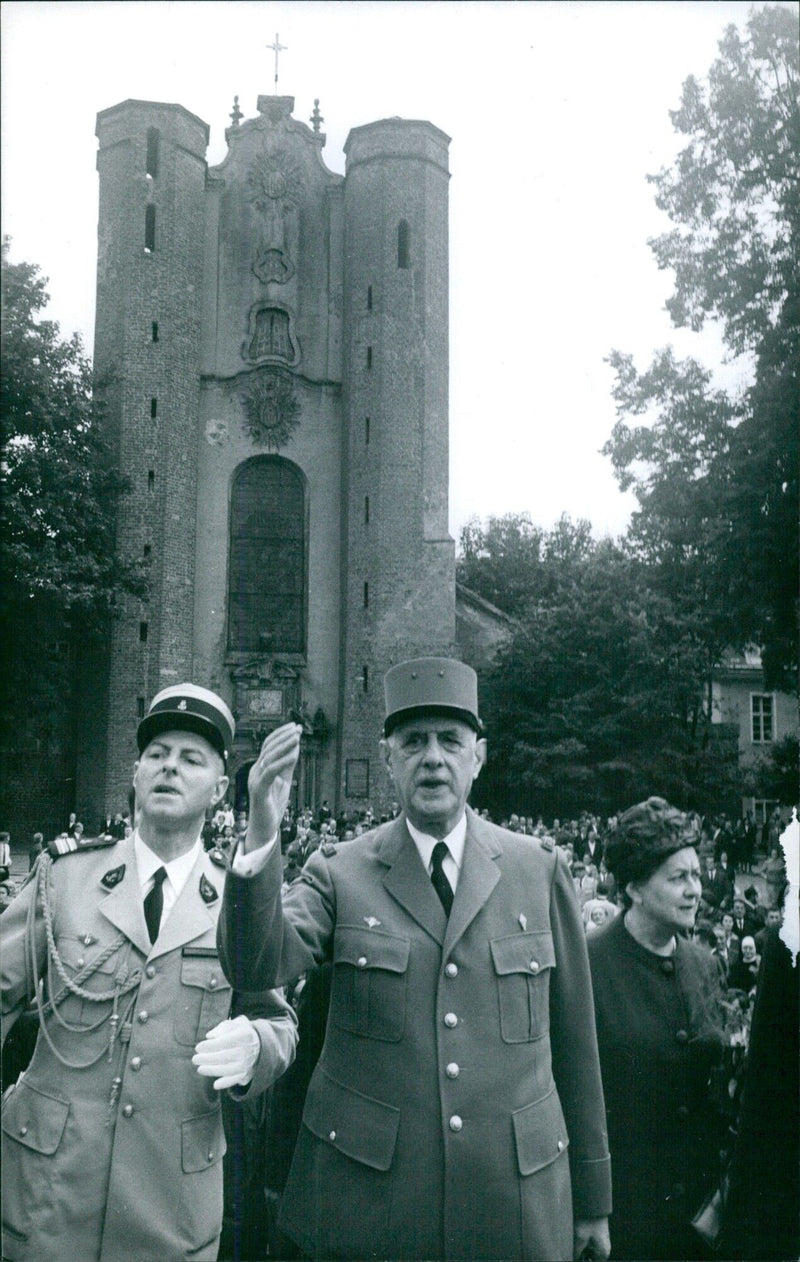
{"type": "Polygon", "coordinates": [[[450,531],[471,517],[562,514],[596,535],[635,501],[601,454],[616,420],[612,348],[638,367],[668,343],[746,384],[718,332],[674,329],[669,273],[647,239],[670,227],[647,173],[681,148],[669,111],[705,78],[747,3],[490,0],[5,0],[3,231],[11,261],[49,278],[48,317],[91,351],[100,110],[129,97],[185,106],[226,153],[274,90],[344,170],[351,127],[399,115],[450,138],[450,531]]]}

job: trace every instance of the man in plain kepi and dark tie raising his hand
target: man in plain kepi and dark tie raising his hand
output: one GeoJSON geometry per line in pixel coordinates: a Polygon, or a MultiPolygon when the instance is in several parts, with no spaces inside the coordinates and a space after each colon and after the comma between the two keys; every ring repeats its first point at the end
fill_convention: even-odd
{"type": "Polygon", "coordinates": [[[401,815],[321,846],[281,906],[300,736],[288,724],[251,770],[225,890],[235,986],[333,964],[281,1229],[326,1259],[607,1257],[603,1093],[567,863],[550,838],[466,809],[486,757],[473,670],[406,661],[385,693],[401,815]]]}

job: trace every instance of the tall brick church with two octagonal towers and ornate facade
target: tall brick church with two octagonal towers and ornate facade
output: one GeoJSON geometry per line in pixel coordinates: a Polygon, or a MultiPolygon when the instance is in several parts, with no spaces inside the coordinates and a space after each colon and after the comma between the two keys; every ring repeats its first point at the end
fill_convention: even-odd
{"type": "Polygon", "coordinates": [[[339,175],[293,107],[236,103],[212,168],[179,105],[97,116],[96,389],[150,591],[87,661],[87,818],[125,803],[138,721],[183,679],[236,714],[237,799],[297,717],[299,804],[380,803],[382,675],[456,651],[449,140],[370,122],[339,175]]]}

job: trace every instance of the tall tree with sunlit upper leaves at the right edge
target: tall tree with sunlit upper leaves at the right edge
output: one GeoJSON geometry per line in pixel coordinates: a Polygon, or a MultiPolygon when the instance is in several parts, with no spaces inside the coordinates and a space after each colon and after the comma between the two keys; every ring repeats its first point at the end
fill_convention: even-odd
{"type": "Polygon", "coordinates": [[[689,78],[671,114],[689,143],[650,177],[675,227],[651,241],[675,274],[678,327],[722,324],[750,353],[741,398],[714,390],[693,360],[661,352],[638,374],[612,352],[620,420],[604,447],[638,498],[631,543],[676,577],[683,555],[708,618],[709,650],[763,649],[770,687],[796,687],[800,427],[800,80],[795,16],[753,10],[729,27],[708,85],[689,78]],[[628,428],[627,415],[655,411],[628,428]]]}

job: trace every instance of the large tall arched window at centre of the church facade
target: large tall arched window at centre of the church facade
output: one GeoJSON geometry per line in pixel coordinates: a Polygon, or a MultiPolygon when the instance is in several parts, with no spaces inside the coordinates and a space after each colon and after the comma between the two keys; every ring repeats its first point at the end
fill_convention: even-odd
{"type": "Polygon", "coordinates": [[[281,456],[240,466],[231,495],[228,649],[304,652],[305,478],[281,456]]]}

